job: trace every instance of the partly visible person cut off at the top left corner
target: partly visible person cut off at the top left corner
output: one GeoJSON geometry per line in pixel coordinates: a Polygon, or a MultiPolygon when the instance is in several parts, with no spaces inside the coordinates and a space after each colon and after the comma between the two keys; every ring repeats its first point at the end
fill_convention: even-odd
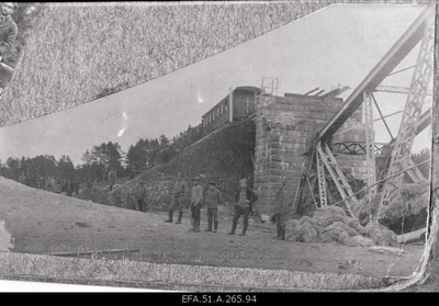
{"type": "MultiPolygon", "coordinates": [[[[0,61],[11,52],[15,43],[16,34],[19,33],[19,27],[11,18],[16,7],[16,2],[3,2],[0,7],[0,61]]],[[[11,76],[11,68],[0,65],[0,98],[3,95],[4,87],[9,82],[11,76]]]]}

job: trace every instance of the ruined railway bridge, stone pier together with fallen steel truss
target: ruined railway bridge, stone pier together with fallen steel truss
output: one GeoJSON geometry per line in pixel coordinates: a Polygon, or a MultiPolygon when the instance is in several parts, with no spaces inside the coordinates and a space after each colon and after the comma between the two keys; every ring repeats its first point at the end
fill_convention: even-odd
{"type": "Polygon", "coordinates": [[[425,104],[431,94],[434,29],[434,10],[426,8],[346,101],[319,93],[278,97],[262,91],[257,97],[254,182],[260,212],[272,212],[273,196],[285,181],[293,211],[312,195],[316,208],[337,204],[352,215],[350,206],[360,193],[351,184],[358,179],[365,184],[361,192],[367,201],[379,199],[373,216],[379,222],[382,208],[404,184],[405,173],[413,182],[425,179],[410,152],[414,138],[431,122],[431,109],[425,104]],[[409,88],[383,84],[389,76],[407,70],[395,69],[416,46],[409,88]],[[397,135],[389,129],[376,91],[407,95],[397,135]],[[373,117],[376,111],[379,118],[373,117]],[[391,134],[389,144],[375,143],[376,120],[391,134]],[[335,189],[328,189],[328,179],[335,189]]]}

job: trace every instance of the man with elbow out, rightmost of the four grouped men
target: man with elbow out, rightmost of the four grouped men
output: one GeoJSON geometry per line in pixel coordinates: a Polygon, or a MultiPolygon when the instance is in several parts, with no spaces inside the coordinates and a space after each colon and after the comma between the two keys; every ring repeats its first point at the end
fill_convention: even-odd
{"type": "Polygon", "coordinates": [[[243,216],[243,233],[240,236],[245,236],[248,227],[248,215],[250,213],[250,206],[258,200],[256,193],[247,188],[247,179],[239,181],[240,189],[235,195],[235,214],[232,223],[232,230],[228,235],[235,235],[238,219],[243,216]]]}

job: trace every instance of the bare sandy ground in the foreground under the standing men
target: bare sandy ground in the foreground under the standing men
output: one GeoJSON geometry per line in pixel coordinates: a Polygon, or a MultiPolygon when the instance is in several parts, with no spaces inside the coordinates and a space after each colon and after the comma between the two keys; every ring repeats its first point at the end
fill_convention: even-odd
{"type": "MultiPolygon", "coordinates": [[[[274,226],[250,224],[245,237],[226,235],[229,216],[218,233],[192,233],[189,213],[180,225],[164,223],[162,213],[140,213],[34,190],[0,178],[0,220],[14,238],[14,252],[48,253],[138,249],[101,257],[161,263],[282,269],[303,272],[408,276],[423,246],[405,252],[375,253],[365,248],[273,240],[274,226]]],[[[202,211],[202,225],[206,225],[202,211]]],[[[237,233],[240,233],[238,224],[237,233]]]]}

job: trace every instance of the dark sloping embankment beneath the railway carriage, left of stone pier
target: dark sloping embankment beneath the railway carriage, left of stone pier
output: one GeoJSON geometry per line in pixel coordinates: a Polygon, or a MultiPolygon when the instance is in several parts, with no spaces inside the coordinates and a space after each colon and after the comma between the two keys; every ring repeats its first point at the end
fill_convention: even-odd
{"type": "Polygon", "coordinates": [[[170,202],[178,172],[183,173],[189,183],[193,177],[200,175],[203,188],[210,181],[215,181],[225,200],[229,202],[240,179],[248,178],[249,183],[252,183],[254,150],[254,122],[233,122],[185,148],[169,162],[158,165],[126,182],[101,203],[135,208],[135,188],[144,180],[149,209],[164,211],[170,202]]]}

